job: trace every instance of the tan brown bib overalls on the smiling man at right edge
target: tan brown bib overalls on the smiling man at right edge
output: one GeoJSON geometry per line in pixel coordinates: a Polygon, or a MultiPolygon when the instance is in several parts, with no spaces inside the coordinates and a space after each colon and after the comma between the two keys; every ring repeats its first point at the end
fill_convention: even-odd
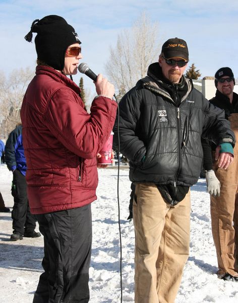
{"type": "Polygon", "coordinates": [[[219,197],[211,196],[212,235],[216,247],[218,276],[238,276],[238,114],[229,117],[236,137],[234,160],[229,167],[214,171],[221,183],[219,197]]]}

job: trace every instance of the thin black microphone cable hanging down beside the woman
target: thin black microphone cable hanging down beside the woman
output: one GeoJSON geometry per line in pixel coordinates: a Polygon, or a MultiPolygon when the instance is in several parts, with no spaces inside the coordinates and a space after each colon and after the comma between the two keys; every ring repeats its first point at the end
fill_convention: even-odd
{"type": "Polygon", "coordinates": [[[120,119],[120,111],[119,104],[117,102],[116,96],[114,94],[114,98],[117,103],[117,140],[118,140],[118,150],[117,150],[117,206],[118,206],[118,227],[119,227],[119,238],[120,238],[120,285],[121,285],[121,303],[123,302],[123,276],[122,276],[122,233],[121,233],[121,215],[120,215],[120,198],[119,198],[119,177],[120,177],[120,135],[119,135],[119,119],[120,119]]]}

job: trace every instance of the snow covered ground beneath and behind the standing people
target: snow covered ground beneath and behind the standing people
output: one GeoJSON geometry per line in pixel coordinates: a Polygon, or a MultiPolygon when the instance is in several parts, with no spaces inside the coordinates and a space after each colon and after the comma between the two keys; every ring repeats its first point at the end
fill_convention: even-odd
{"type": "MultiPolygon", "coordinates": [[[[127,220],[130,198],[128,168],[120,172],[120,209],[123,244],[123,302],[134,302],[134,227],[127,220]]],[[[12,173],[0,166],[0,190],[12,208],[12,173]]],[[[190,257],[176,303],[238,301],[238,283],[218,280],[211,235],[209,195],[205,179],[192,187],[190,257]]],[[[120,240],[118,231],[117,170],[100,169],[98,199],[92,204],[93,245],[90,289],[93,303],[117,303],[120,291],[120,240]]],[[[37,227],[38,230],[38,227],[37,227]]],[[[11,242],[11,214],[0,213],[0,302],[32,302],[42,272],[43,238],[11,242]]]]}

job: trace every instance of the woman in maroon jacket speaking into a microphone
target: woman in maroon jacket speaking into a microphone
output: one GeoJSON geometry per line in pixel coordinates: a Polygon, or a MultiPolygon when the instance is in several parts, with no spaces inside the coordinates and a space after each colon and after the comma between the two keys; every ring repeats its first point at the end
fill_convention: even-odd
{"type": "Polygon", "coordinates": [[[114,87],[102,75],[88,114],[77,73],[78,35],[65,19],[35,20],[36,76],[25,93],[21,119],[30,209],[44,236],[44,258],[34,303],[88,302],[92,223],[98,184],[96,156],[116,115],[114,87]]]}

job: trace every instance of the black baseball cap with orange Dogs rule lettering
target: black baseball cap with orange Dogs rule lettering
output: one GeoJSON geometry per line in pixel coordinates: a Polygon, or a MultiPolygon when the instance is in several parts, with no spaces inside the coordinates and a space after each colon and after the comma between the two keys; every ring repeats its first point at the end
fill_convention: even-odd
{"type": "Polygon", "coordinates": [[[180,38],[168,39],[163,43],[161,53],[166,59],[181,58],[189,61],[189,49],[185,40],[180,38]]]}

